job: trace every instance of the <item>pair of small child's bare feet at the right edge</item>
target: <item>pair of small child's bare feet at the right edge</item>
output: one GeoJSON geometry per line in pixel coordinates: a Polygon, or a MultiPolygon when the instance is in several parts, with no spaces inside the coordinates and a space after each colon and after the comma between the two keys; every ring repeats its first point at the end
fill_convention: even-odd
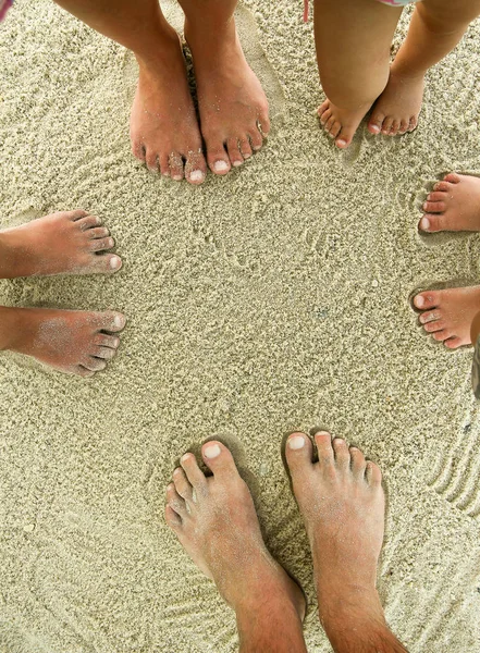
{"type": "MultiPolygon", "coordinates": [[[[423,202],[419,230],[424,233],[480,232],[480,178],[450,173],[423,202]]],[[[450,349],[475,343],[472,324],[480,312],[480,286],[424,291],[414,297],[420,324],[450,349]]]]}

